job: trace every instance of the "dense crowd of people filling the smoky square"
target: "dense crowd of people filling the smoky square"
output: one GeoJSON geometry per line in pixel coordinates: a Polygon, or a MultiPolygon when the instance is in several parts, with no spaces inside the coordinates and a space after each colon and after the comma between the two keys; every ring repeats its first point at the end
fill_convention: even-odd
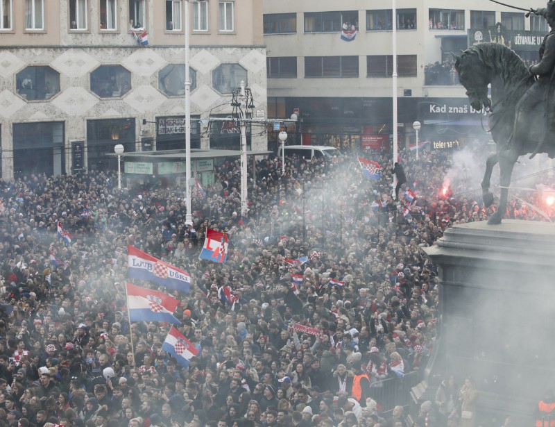
{"type": "Polygon", "coordinates": [[[183,190],[119,191],[110,171],[0,182],[0,426],[473,426],[470,379],[413,414],[406,385],[438,337],[422,248],[492,211],[441,195],[448,154],[402,153],[411,203],[371,157],[377,181],[352,156],[287,158],[284,176],[259,160],[246,215],[230,160],[194,192],[192,225],[183,190]],[[230,235],[223,264],[198,259],[208,228],[230,235]],[[198,348],[187,366],[162,349],[171,325],[128,321],[128,244],[191,275],[189,293],[160,288],[198,348]]]}

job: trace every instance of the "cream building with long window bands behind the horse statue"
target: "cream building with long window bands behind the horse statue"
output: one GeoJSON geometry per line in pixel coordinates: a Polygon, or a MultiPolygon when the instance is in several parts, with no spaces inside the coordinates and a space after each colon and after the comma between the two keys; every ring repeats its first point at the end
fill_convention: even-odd
{"type": "Polygon", "coordinates": [[[464,146],[484,132],[450,53],[469,40],[493,41],[535,60],[549,31],[543,17],[527,19],[484,0],[397,0],[396,8],[393,17],[391,1],[264,0],[268,115],[285,118],[298,109],[296,143],[344,150],[388,144],[395,128],[395,27],[400,143],[413,144],[419,120],[420,141],[438,149],[464,146]]]}

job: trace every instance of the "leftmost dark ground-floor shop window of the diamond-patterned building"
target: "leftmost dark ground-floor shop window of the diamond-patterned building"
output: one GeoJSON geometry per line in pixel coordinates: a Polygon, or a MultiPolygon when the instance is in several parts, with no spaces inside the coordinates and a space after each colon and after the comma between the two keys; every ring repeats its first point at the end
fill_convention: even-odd
{"type": "Polygon", "coordinates": [[[64,122],[13,124],[14,176],[65,171],[64,122]]]}

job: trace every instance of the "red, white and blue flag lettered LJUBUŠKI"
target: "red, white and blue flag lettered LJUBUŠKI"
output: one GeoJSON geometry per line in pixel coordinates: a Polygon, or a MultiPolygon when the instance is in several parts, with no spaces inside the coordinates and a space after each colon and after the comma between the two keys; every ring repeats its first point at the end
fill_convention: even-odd
{"type": "Polygon", "coordinates": [[[189,292],[191,276],[187,271],[173,267],[164,261],[139,251],[135,246],[127,246],[127,274],[130,278],[152,281],[160,286],[171,287],[181,292],[189,292]]]}

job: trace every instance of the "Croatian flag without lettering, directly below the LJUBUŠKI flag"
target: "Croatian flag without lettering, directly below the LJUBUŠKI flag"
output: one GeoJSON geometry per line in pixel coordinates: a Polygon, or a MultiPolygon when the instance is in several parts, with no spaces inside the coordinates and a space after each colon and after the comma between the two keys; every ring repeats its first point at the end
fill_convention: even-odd
{"type": "Polygon", "coordinates": [[[127,283],[127,308],[131,321],[166,321],[181,324],[173,317],[179,301],[163,292],[127,283]]]}

